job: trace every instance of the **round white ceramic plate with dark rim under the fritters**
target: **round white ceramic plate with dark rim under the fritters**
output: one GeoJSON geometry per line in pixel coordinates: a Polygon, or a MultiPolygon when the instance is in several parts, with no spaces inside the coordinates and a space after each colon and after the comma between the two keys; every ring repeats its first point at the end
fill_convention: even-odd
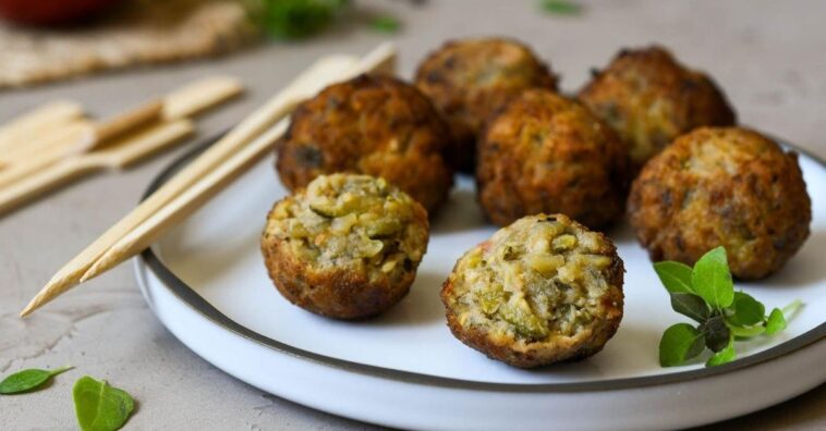
{"type": "MultiPolygon", "coordinates": [[[[184,163],[182,159],[153,187],[184,163]]],[[[767,307],[805,303],[789,328],[738,345],[739,359],[664,369],[671,311],[628,226],[608,232],[624,260],[625,309],[595,357],[526,371],[487,359],[450,334],[439,290],[455,259],[487,238],[473,184],[459,181],[433,223],[411,293],[378,319],[348,323],[290,305],[272,287],[258,238],[286,195],[262,162],[137,259],[160,321],[229,374],[294,402],[359,420],[416,429],[663,429],[740,416],[826,381],[826,168],[801,167],[813,200],[812,235],[784,270],[738,283],[767,307]]]]}

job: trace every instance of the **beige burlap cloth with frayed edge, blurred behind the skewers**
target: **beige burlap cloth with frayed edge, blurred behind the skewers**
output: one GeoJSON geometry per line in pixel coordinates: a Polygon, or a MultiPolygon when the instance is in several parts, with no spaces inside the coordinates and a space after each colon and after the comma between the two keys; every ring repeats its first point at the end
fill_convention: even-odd
{"type": "Polygon", "coordinates": [[[0,88],[224,53],[257,39],[234,0],[129,0],[60,30],[0,24],[0,88]]]}

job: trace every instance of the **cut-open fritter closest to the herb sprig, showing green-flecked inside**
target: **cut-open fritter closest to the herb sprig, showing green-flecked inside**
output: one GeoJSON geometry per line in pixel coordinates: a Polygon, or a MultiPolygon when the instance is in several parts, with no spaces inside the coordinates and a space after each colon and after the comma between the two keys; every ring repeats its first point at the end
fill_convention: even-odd
{"type": "Polygon", "coordinates": [[[471,248],[441,290],[448,327],[491,359],[532,368],[599,352],[622,320],[622,260],[566,216],[531,216],[471,248]]]}

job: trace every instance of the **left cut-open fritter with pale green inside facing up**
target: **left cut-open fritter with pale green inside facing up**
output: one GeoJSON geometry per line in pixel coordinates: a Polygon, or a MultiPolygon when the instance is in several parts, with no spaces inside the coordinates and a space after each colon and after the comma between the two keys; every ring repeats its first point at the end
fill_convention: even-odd
{"type": "Polygon", "coordinates": [[[427,237],[427,211],[384,178],[320,175],[275,205],[262,251],[270,279],[292,304],[364,319],[408,294],[427,237]]]}

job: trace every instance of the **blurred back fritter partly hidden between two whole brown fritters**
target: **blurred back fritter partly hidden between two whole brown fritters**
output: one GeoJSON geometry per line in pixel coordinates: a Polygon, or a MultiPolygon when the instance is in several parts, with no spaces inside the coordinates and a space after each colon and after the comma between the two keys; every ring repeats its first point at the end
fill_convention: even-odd
{"type": "Polygon", "coordinates": [[[451,160],[473,172],[486,119],[524,89],[556,89],[557,78],[530,48],[499,38],[445,44],[418,66],[416,86],[436,103],[455,138],[451,160]]]}

